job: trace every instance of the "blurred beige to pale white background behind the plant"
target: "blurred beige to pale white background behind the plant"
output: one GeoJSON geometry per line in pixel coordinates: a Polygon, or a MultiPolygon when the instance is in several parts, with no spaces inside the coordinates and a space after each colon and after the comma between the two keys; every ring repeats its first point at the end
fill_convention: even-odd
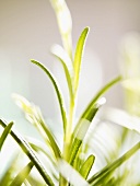
{"type": "MultiPolygon", "coordinates": [[[[121,42],[128,33],[140,31],[140,1],[67,3],[73,21],[73,48],[82,30],[91,28],[80,80],[79,115],[95,92],[120,73],[121,42]]],[[[63,71],[50,54],[52,44],[61,45],[61,37],[49,0],[0,0],[0,117],[21,123],[21,113],[11,97],[19,93],[38,105],[46,118],[57,118],[59,108],[51,83],[30,62],[36,59],[54,72],[67,103],[63,71]]],[[[124,107],[122,92],[120,85],[115,85],[106,94],[107,105],[124,107]]]]}

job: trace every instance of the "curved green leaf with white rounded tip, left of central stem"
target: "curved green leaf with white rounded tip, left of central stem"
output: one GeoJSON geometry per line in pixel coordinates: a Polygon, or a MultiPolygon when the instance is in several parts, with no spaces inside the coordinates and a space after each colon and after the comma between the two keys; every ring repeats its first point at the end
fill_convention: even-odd
{"type": "Polygon", "coordinates": [[[66,78],[67,78],[67,83],[68,83],[68,88],[69,88],[69,94],[70,94],[70,100],[73,100],[73,85],[72,85],[72,81],[73,81],[73,66],[72,66],[72,61],[70,60],[69,56],[66,54],[66,51],[63,50],[62,47],[60,47],[59,45],[54,45],[51,48],[51,53],[52,55],[55,55],[59,61],[61,62],[65,73],[66,73],[66,78]]]}

